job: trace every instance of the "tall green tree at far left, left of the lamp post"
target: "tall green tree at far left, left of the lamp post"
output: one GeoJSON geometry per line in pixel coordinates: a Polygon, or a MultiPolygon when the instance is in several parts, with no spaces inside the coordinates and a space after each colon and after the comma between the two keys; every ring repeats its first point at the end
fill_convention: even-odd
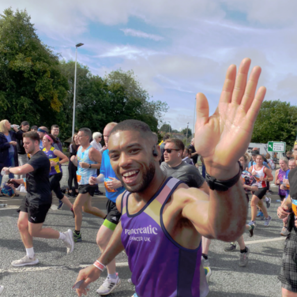
{"type": "Polygon", "coordinates": [[[5,9],[0,15],[1,118],[59,124],[67,90],[59,56],[40,41],[27,11],[5,9]]]}

